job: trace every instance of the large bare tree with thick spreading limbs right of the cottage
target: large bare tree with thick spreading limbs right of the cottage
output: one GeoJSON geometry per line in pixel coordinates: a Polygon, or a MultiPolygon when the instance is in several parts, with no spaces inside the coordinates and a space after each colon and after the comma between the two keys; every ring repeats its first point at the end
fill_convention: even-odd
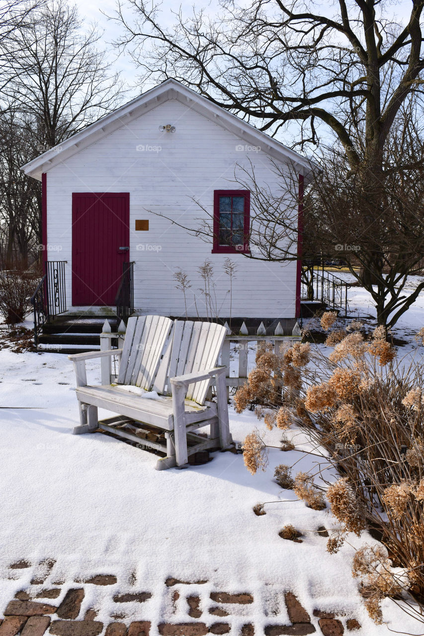
{"type": "MultiPolygon", "coordinates": [[[[360,242],[359,280],[374,298],[378,320],[388,322],[391,311],[393,323],[421,291],[419,284],[403,303],[405,270],[416,270],[420,254],[412,254],[421,244],[416,234],[409,237],[412,222],[402,225],[400,210],[410,217],[420,202],[420,149],[409,152],[409,144],[411,122],[422,113],[424,0],[413,0],[405,24],[390,18],[394,7],[385,0],[338,0],[332,16],[299,0],[219,4],[218,17],[180,10],[173,27],[165,27],[159,5],[128,0],[130,19],[118,2],[115,19],[124,34],[117,45],[138,63],[141,81],[174,77],[261,130],[292,134],[293,148],[314,149],[323,169],[318,193],[328,194],[330,177],[334,193],[336,182],[346,184],[343,223],[331,225],[328,214],[327,235],[342,244],[348,227],[351,244],[352,236],[372,234],[372,242],[363,236],[360,242]],[[335,143],[337,160],[332,151],[326,156],[335,143]],[[388,213],[395,209],[398,225],[388,213]],[[399,228],[402,240],[388,238],[399,228]],[[404,250],[397,259],[395,249],[404,250]]],[[[322,203],[320,194],[316,200],[322,203]]]]}

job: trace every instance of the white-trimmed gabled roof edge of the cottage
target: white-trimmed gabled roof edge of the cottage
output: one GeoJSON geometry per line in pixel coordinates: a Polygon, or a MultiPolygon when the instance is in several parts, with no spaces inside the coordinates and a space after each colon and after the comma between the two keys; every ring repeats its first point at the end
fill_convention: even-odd
{"type": "Polygon", "coordinates": [[[229,113],[221,106],[216,106],[209,99],[199,95],[191,88],[187,88],[176,79],[166,79],[155,88],[151,88],[142,95],[120,106],[112,113],[104,115],[99,120],[76,132],[72,137],[50,148],[32,161],[25,163],[21,170],[28,176],[41,181],[41,174],[48,172],[55,165],[62,163],[80,150],[87,148],[111,132],[127,125],[143,113],[148,113],[159,104],[169,99],[176,99],[185,106],[189,105],[194,111],[215,121],[237,135],[246,143],[260,146],[261,150],[281,162],[291,162],[295,169],[304,174],[306,181],[311,171],[311,162],[294,150],[287,148],[279,141],[272,139],[266,133],[241,120],[237,115],[229,113]]]}

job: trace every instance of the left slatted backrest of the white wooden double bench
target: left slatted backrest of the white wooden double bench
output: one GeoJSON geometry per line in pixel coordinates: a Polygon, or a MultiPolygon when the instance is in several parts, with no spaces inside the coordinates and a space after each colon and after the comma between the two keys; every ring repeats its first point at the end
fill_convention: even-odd
{"type": "Polygon", "coordinates": [[[165,316],[133,316],[125,331],[118,384],[132,384],[150,391],[159,370],[173,321],[165,316]]]}

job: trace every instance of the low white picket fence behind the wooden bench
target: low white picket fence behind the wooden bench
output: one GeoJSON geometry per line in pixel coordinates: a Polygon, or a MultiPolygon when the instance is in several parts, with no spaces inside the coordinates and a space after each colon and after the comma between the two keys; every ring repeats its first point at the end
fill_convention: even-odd
{"type": "MultiPolygon", "coordinates": [[[[227,326],[228,331],[228,325],[227,326]]],[[[229,333],[225,338],[225,342],[222,347],[222,354],[218,361],[218,364],[222,364],[227,367],[226,382],[227,387],[239,387],[243,385],[248,377],[248,356],[249,351],[252,349],[251,343],[255,342],[256,347],[259,347],[261,343],[271,343],[273,350],[276,354],[282,355],[286,349],[288,349],[293,342],[299,342],[302,338],[300,334],[299,324],[296,322],[292,335],[283,335],[283,328],[278,323],[277,328],[274,331],[274,335],[265,335],[265,327],[261,322],[257,333],[248,335],[248,330],[243,322],[239,335],[231,335],[229,333]],[[234,344],[236,346],[234,346],[234,344]],[[233,375],[234,372],[236,375],[233,375]]],[[[121,322],[118,327],[118,333],[111,332],[111,326],[108,320],[104,321],[103,331],[100,335],[100,350],[108,350],[112,348],[112,340],[118,338],[118,349],[122,347],[125,338],[125,324],[121,322]]],[[[101,382],[102,384],[110,384],[116,379],[115,373],[112,373],[112,360],[110,356],[101,358],[101,382]]]]}

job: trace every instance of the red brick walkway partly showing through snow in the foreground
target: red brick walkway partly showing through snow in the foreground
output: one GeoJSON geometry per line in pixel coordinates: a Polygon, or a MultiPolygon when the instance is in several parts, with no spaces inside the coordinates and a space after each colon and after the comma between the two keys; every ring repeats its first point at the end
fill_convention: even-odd
{"type": "MultiPolygon", "coordinates": [[[[87,586],[115,586],[118,583],[117,577],[113,574],[98,574],[83,581],[65,584],[64,581],[55,581],[54,577],[50,576],[54,564],[53,559],[39,563],[39,574],[32,577],[30,586],[18,591],[15,598],[10,600],[6,607],[1,608],[4,619],[0,619],[0,636],[17,636],[18,634],[43,636],[45,632],[57,636],[98,636],[105,626],[105,636],[150,636],[152,622],[148,620],[147,610],[143,604],[152,598],[152,593],[143,590],[117,593],[117,588],[114,588],[111,598],[117,604],[117,611],[111,612],[111,621],[104,625],[96,620],[97,611],[94,609],[88,609],[84,616],[80,616],[81,603],[87,586]],[[44,587],[43,584],[47,579],[52,579],[52,583],[44,587]],[[62,602],[54,604],[55,598],[58,598],[65,590],[62,602]],[[122,608],[125,607],[125,603],[134,602],[140,604],[140,620],[133,620],[127,625],[122,620],[125,618],[122,608]]],[[[29,567],[31,563],[25,560],[10,565],[11,570],[25,570],[29,567]]],[[[202,598],[198,591],[199,585],[205,583],[207,581],[181,581],[175,578],[164,581],[164,589],[171,595],[174,613],[177,608],[180,612],[183,608],[183,611],[187,612],[187,623],[173,623],[169,619],[166,623],[159,623],[157,629],[161,635],[226,634],[232,629],[233,619],[237,619],[237,625],[240,625],[240,617],[244,616],[246,622],[237,628],[237,636],[262,636],[255,631],[254,621],[248,619],[248,606],[254,602],[253,595],[249,591],[239,594],[223,590],[212,591],[208,593],[206,603],[206,599],[202,598]],[[190,586],[194,585],[196,587],[190,592],[190,586]],[[193,591],[194,589],[196,591],[193,591]],[[206,605],[208,609],[202,609],[203,605],[206,605]]],[[[344,633],[354,634],[360,628],[360,624],[353,617],[337,616],[336,618],[334,614],[317,608],[313,611],[317,629],[292,592],[286,591],[284,599],[290,623],[287,625],[270,623],[265,626],[265,636],[284,634],[303,636],[311,633],[341,636],[344,633]]]]}

